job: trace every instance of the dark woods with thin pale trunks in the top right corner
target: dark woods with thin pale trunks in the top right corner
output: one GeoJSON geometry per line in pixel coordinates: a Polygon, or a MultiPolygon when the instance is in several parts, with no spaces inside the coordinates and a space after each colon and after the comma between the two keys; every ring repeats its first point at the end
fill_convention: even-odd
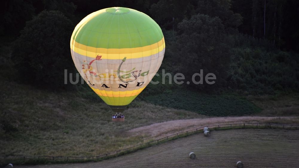
{"type": "Polygon", "coordinates": [[[299,1],[234,0],[232,4],[232,10],[244,18],[239,26],[241,33],[267,39],[283,50],[298,51],[299,1]]]}

